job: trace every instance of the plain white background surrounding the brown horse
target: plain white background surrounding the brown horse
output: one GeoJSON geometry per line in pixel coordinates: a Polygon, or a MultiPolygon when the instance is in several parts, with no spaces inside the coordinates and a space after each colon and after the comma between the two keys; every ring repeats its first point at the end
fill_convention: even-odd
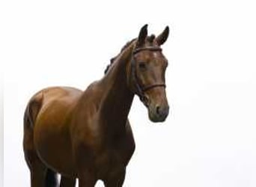
{"type": "MultiPolygon", "coordinates": [[[[256,186],[255,1],[2,1],[4,187],[29,186],[22,115],[36,91],[85,89],[109,59],[165,25],[172,114],[154,124],[136,97],[124,186],[256,186]]],[[[97,183],[97,186],[103,186],[97,183]]]]}

